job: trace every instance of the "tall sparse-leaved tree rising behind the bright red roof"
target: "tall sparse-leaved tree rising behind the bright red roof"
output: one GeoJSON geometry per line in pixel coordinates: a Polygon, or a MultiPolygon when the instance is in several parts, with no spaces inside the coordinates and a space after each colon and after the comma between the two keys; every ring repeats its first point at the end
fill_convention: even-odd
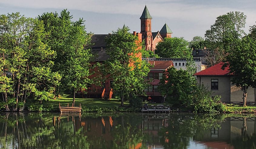
{"type": "Polygon", "coordinates": [[[211,29],[205,32],[205,40],[210,51],[206,52],[206,61],[209,66],[213,66],[224,60],[227,48],[231,48],[232,40],[241,38],[244,35],[246,15],[243,12],[228,12],[218,16],[211,29]],[[232,39],[232,40],[230,40],[232,39]],[[228,47],[227,47],[228,46],[228,47]]]}

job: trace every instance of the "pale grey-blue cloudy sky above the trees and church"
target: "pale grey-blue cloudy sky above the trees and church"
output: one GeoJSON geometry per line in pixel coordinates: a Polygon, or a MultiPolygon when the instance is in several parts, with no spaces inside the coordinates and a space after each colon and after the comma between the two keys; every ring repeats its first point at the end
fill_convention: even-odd
{"type": "Polygon", "coordinates": [[[153,32],[168,24],[172,37],[204,37],[216,18],[230,11],[244,12],[247,16],[244,31],[256,24],[255,0],[0,0],[0,14],[20,12],[35,18],[44,12],[68,9],[73,21],[83,18],[87,32],[108,34],[128,26],[140,32],[140,16],[147,5],[152,16],[153,32]]]}

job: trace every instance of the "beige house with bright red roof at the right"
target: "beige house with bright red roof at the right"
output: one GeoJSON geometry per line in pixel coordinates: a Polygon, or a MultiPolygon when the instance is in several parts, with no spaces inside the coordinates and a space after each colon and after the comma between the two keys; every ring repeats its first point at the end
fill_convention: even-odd
{"type": "MultiPolygon", "coordinates": [[[[221,96],[222,102],[242,102],[243,91],[240,87],[235,86],[231,82],[232,74],[229,68],[221,69],[224,63],[218,63],[203,71],[195,73],[198,85],[204,85],[211,91],[211,96],[221,96]]],[[[247,102],[256,101],[255,88],[248,88],[247,102]]]]}

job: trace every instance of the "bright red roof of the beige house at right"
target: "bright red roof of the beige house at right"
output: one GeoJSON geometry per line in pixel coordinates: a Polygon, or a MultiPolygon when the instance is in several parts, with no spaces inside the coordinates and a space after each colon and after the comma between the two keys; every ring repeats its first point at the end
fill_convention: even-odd
{"type": "Polygon", "coordinates": [[[194,76],[228,76],[229,67],[225,67],[224,70],[221,69],[224,63],[218,63],[214,66],[211,66],[203,71],[195,73],[194,76]]]}

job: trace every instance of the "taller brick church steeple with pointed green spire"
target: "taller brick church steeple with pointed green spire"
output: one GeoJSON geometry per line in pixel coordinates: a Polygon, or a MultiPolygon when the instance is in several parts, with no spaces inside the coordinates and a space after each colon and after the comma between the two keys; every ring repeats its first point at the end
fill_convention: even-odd
{"type": "Polygon", "coordinates": [[[152,32],[151,32],[152,17],[149,14],[149,11],[146,5],[140,19],[141,19],[142,40],[145,39],[146,50],[152,50],[152,32]]]}

